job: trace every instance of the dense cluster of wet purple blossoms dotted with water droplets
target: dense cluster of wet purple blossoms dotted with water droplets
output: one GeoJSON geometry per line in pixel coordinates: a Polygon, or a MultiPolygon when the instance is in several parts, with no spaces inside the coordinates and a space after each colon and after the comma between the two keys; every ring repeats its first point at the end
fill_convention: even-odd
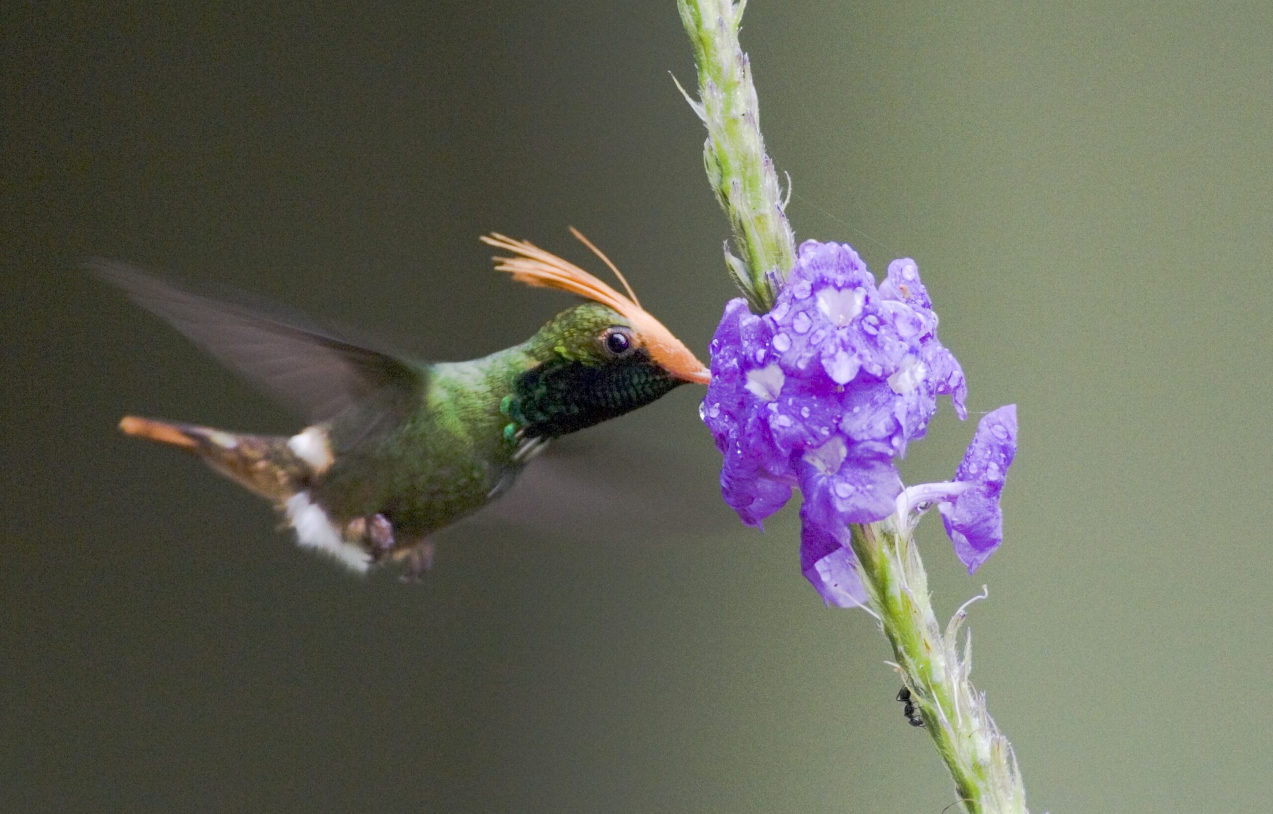
{"type": "Polygon", "coordinates": [[[938,395],[965,418],[966,394],[913,260],[889,264],[877,287],[852,247],[807,241],[769,313],[726,306],[701,415],[724,456],[726,502],[760,526],[798,485],[802,569],[827,601],[852,605],[862,589],[845,525],[894,513],[894,459],[923,437],[938,395]]]}

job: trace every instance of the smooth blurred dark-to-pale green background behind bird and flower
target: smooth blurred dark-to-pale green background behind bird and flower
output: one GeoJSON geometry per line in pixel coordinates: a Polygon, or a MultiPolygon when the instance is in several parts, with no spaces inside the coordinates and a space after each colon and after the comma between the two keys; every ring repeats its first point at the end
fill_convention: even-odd
{"type": "MultiPolygon", "coordinates": [[[[565,302],[477,234],[587,261],[574,224],[705,349],[728,229],[670,0],[0,15],[0,810],[952,801],[872,620],[801,578],[794,512],[721,506],[690,387],[594,431],[675,493],[642,498],[654,530],[461,527],[414,587],[115,429],[297,423],[87,255],[467,358],[565,302]]],[[[990,587],[974,680],[1035,811],[1273,800],[1270,43],[1264,1],[747,11],[797,236],[915,257],[970,409],[1020,405],[1002,550],[969,577],[920,539],[942,613],[990,587]]],[[[971,431],[943,405],[908,480],[971,431]]]]}

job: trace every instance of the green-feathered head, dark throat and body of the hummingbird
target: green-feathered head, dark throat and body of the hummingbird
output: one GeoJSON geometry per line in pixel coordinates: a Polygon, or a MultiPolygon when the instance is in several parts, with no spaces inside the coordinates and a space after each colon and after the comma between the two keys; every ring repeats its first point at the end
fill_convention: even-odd
{"type": "Polygon", "coordinates": [[[607,354],[601,338],[615,327],[631,326],[605,306],[575,306],[521,345],[423,368],[415,408],[379,431],[369,433],[358,410],[339,415],[327,428],[335,462],[313,487],[317,502],[339,520],[384,515],[405,539],[480,510],[521,474],[527,445],[681,383],[639,348],[607,354]]]}

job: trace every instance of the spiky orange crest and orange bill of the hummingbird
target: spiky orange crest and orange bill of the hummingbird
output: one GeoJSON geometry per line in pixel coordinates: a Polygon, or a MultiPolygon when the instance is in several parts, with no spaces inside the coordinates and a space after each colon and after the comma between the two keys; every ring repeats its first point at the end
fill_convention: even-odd
{"type": "Polygon", "coordinates": [[[640,307],[636,294],[633,293],[631,287],[628,285],[628,280],[619,273],[615,264],[610,262],[610,259],[601,253],[601,250],[593,246],[578,229],[570,227],[570,233],[601,257],[602,262],[624,284],[628,296],[620,294],[573,262],[563,260],[552,252],[544,251],[530,241],[514,241],[498,232],[482,234],[481,241],[488,246],[503,248],[517,255],[516,257],[495,257],[496,271],[508,271],[513,275],[514,280],[526,283],[527,285],[556,288],[612,308],[633,324],[638,339],[649,350],[651,358],[658,362],[667,372],[687,382],[708,383],[712,375],[707,367],[690,353],[690,349],[680,339],[672,335],[672,331],[656,320],[649,311],[640,307]]]}

